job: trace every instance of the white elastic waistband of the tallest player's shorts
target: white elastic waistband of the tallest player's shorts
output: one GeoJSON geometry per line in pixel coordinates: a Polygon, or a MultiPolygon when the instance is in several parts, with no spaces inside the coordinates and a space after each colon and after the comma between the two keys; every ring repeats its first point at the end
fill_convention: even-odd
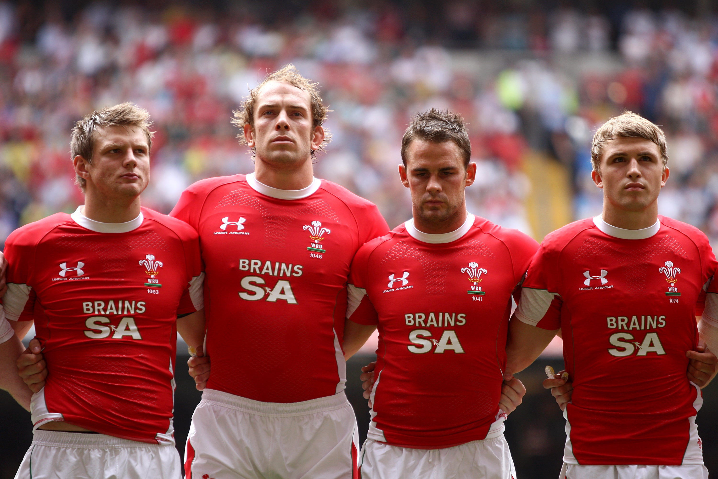
{"type": "Polygon", "coordinates": [[[333,411],[347,405],[351,407],[344,391],[334,396],[325,396],[309,401],[282,403],[254,401],[216,389],[205,389],[202,391],[202,401],[267,417],[303,416],[304,414],[333,411]]]}

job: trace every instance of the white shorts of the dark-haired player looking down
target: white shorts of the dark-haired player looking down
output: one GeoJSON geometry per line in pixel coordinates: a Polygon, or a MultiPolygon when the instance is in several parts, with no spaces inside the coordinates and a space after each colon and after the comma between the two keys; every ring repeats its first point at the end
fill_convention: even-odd
{"type": "Polygon", "coordinates": [[[505,437],[445,449],[411,449],[366,440],[361,479],[516,479],[505,437]]]}

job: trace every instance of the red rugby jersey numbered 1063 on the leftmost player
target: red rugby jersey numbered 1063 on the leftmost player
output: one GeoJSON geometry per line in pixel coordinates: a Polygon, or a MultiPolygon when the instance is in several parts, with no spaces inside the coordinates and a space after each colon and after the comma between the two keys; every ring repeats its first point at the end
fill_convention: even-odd
{"type": "Polygon", "coordinates": [[[6,316],[34,320],[47,361],[32,422],[174,444],[177,315],[203,301],[197,233],[146,208],[117,224],[80,208],[24,225],[5,243],[6,316]]]}

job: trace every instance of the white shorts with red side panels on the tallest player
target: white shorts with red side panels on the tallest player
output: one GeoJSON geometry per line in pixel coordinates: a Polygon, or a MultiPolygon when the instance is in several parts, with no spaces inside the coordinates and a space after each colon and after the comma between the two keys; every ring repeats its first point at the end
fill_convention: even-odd
{"type": "Polygon", "coordinates": [[[270,403],[205,389],[192,414],[186,479],[355,479],[359,435],[343,391],[270,403]]]}

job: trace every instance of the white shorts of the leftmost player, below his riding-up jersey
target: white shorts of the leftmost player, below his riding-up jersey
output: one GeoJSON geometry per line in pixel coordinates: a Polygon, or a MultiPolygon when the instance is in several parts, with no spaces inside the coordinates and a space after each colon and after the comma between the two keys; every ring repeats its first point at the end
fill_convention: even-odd
{"type": "Polygon", "coordinates": [[[15,479],[46,478],[180,479],[182,466],[173,445],[37,429],[15,479]]]}

